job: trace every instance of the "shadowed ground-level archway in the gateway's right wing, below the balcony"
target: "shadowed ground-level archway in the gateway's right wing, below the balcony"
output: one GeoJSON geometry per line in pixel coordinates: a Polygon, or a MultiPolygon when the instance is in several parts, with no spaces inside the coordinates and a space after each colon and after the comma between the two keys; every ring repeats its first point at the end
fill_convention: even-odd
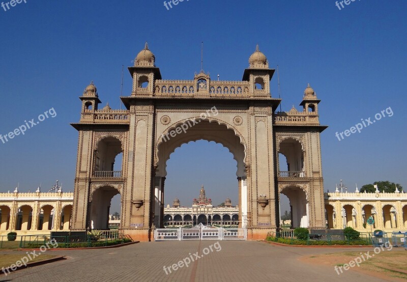
{"type": "Polygon", "coordinates": [[[287,196],[291,210],[291,227],[308,228],[308,201],[304,189],[289,185],[281,189],[281,194],[287,196]]]}

